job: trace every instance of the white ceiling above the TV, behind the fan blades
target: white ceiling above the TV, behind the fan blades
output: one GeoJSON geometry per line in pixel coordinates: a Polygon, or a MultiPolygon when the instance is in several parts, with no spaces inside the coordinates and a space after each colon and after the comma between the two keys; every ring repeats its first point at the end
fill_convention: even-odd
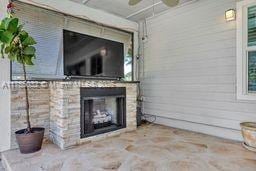
{"type": "MultiPolygon", "coordinates": [[[[71,1],[74,1],[80,4],[83,4],[84,2],[84,5],[87,5],[89,7],[100,9],[100,10],[121,16],[123,18],[127,18],[129,20],[133,20],[133,21],[139,21],[144,18],[152,16],[153,2],[155,4],[158,4],[154,6],[155,14],[158,14],[160,12],[170,9],[163,3],[159,3],[161,0],[143,0],[142,2],[140,2],[135,6],[129,6],[128,5],[129,0],[71,0],[71,1]],[[141,13],[138,13],[140,10],[143,10],[145,8],[148,8],[148,9],[141,13]]],[[[180,4],[188,1],[191,1],[191,0],[180,0],[180,4]]]]}

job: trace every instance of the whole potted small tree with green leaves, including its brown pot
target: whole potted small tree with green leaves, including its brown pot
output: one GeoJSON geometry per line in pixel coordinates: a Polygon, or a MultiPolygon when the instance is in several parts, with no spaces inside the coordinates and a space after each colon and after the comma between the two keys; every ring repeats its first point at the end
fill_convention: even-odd
{"type": "Polygon", "coordinates": [[[12,16],[13,4],[7,6],[8,17],[0,22],[0,52],[2,57],[22,65],[24,76],[24,90],[26,95],[26,123],[27,128],[15,132],[21,153],[39,151],[44,137],[44,128],[32,128],[30,124],[30,108],[26,66],[33,65],[36,41],[24,30],[19,19],[12,16]]]}

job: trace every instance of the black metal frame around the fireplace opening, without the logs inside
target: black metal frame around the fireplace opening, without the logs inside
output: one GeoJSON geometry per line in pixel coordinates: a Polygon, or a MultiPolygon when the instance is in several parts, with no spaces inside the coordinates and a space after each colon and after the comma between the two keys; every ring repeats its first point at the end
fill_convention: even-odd
{"type": "Polygon", "coordinates": [[[104,134],[107,132],[116,131],[119,129],[126,128],[126,88],[125,87],[81,87],[80,88],[80,128],[81,128],[81,138],[87,138],[94,135],[104,134]],[[95,98],[102,97],[116,97],[123,98],[123,124],[117,127],[110,127],[102,130],[95,130],[92,133],[85,132],[85,109],[84,101],[95,98]]]}

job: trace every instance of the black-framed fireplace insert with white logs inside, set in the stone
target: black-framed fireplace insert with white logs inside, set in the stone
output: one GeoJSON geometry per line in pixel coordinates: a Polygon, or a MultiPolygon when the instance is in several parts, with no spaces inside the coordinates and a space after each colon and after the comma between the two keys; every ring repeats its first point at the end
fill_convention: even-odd
{"type": "Polygon", "coordinates": [[[126,127],[126,89],[81,88],[81,138],[126,127]]]}

